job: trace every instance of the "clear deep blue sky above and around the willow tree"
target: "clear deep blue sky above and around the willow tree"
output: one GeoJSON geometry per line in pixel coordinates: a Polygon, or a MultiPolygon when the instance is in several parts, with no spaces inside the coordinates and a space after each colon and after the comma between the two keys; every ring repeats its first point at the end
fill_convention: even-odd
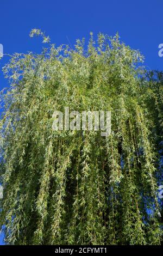
{"type": "MultiPolygon", "coordinates": [[[[95,38],[99,32],[118,32],[122,41],[145,56],[148,70],[163,70],[163,57],[158,56],[163,44],[162,11],[162,0],[0,0],[0,44],[4,53],[39,53],[41,39],[29,38],[32,28],[46,32],[57,46],[88,39],[90,32],[95,38]]],[[[8,86],[2,74],[7,62],[7,56],[0,60],[0,90],[8,86]]]]}

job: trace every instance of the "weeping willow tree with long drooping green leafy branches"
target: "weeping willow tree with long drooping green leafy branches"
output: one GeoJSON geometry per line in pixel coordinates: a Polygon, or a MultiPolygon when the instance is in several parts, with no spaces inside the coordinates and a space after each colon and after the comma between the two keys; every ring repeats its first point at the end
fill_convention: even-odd
{"type": "MultiPolygon", "coordinates": [[[[33,29],[30,36],[41,35],[33,29]]],[[[114,37],[16,53],[1,93],[1,226],[14,245],[159,245],[158,156],[143,60],[114,37]],[[148,102],[148,100],[147,100],[148,102]],[[53,112],[111,111],[111,135],[54,131],[53,112]],[[147,210],[148,209],[148,210],[147,210]]]]}

